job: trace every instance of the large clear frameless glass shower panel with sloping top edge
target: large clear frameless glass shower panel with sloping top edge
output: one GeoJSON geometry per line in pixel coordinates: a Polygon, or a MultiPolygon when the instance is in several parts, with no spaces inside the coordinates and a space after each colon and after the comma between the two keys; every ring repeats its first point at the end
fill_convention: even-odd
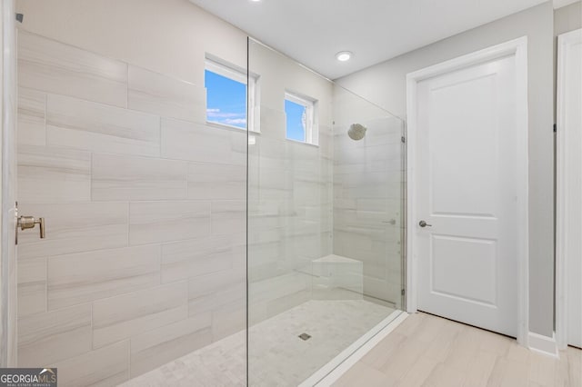
{"type": "Polygon", "coordinates": [[[403,126],[252,39],[248,55],[248,382],[311,385],[402,308],[403,126]],[[316,146],[287,139],[286,90],[316,101],[316,146]]]}

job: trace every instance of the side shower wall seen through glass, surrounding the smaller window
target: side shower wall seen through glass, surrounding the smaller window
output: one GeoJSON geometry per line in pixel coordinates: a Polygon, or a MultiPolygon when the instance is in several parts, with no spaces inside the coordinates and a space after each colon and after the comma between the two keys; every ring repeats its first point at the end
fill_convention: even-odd
{"type": "Polygon", "coordinates": [[[332,253],[333,84],[263,45],[250,45],[249,69],[261,90],[261,133],[248,147],[248,313],[259,323],[312,299],[311,263],[332,253]],[[286,139],[286,91],[317,101],[317,145],[286,139]]]}

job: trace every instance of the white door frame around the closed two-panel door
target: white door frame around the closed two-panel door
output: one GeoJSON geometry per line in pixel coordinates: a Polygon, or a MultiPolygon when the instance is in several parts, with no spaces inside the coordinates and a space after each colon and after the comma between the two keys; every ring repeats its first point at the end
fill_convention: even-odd
{"type": "Polygon", "coordinates": [[[408,259],[406,262],[406,312],[416,313],[417,297],[417,263],[415,256],[416,244],[416,186],[415,155],[416,155],[416,87],[427,78],[446,74],[471,65],[479,65],[503,56],[515,55],[517,77],[517,264],[518,264],[518,316],[517,342],[527,346],[529,329],[529,233],[528,233],[528,155],[527,155],[527,36],[494,45],[472,54],[459,56],[447,62],[432,65],[422,70],[406,75],[406,114],[408,118],[407,149],[407,235],[406,243],[408,259]]]}

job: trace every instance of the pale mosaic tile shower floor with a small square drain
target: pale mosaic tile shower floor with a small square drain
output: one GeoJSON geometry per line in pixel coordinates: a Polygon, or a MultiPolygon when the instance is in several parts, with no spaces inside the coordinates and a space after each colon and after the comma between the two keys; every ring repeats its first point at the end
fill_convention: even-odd
{"type": "MultiPolygon", "coordinates": [[[[249,385],[296,386],[393,312],[365,300],[314,300],[257,323],[249,332],[249,385]],[[310,337],[303,340],[303,333],[310,337]]],[[[245,386],[246,332],[122,385],[245,386]]]]}

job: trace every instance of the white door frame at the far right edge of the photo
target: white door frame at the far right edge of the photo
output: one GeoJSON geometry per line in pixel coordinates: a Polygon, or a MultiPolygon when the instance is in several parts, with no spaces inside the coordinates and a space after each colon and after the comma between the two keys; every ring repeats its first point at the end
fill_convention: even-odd
{"type": "MultiPolygon", "coordinates": [[[[556,138],[556,341],[560,349],[567,347],[567,208],[568,192],[565,182],[568,177],[567,157],[564,153],[567,144],[567,132],[564,125],[566,112],[564,97],[566,85],[566,55],[569,45],[580,43],[582,29],[571,31],[557,37],[557,138],[556,138]]],[[[579,237],[579,235],[572,235],[579,237]]]]}

